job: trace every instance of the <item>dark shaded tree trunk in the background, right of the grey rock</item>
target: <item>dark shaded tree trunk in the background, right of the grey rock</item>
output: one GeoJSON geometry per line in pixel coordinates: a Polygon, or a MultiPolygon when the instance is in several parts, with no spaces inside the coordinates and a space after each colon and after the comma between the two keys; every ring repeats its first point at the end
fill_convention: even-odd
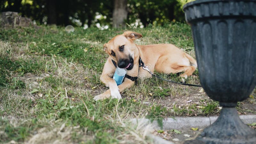
{"type": "Polygon", "coordinates": [[[47,0],[48,14],[47,24],[57,24],[56,1],[47,0]]]}

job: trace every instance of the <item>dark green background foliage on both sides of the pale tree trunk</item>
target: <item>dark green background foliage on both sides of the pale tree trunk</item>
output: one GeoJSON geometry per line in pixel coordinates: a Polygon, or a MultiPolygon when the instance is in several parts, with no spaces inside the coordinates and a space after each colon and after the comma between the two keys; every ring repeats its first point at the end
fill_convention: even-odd
{"type": "MultiPolygon", "coordinates": [[[[184,21],[181,6],[184,0],[128,0],[128,24],[140,19],[142,24],[164,25],[170,21],[184,21]]],[[[96,27],[111,25],[114,1],[112,0],[6,0],[0,3],[0,12],[19,12],[22,16],[30,17],[37,24],[57,24],[96,27]],[[100,18],[96,19],[98,15],[100,18]]]]}

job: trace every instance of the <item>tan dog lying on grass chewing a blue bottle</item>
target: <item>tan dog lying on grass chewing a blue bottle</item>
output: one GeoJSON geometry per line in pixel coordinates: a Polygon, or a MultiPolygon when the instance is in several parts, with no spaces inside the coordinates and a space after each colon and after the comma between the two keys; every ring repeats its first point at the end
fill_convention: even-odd
{"type": "Polygon", "coordinates": [[[132,87],[134,79],[137,77],[151,77],[152,75],[148,71],[139,67],[139,60],[142,60],[152,72],[154,70],[165,74],[184,72],[180,75],[182,82],[196,70],[196,60],[173,44],[135,44],[134,40],[140,37],[142,35],[137,32],[126,31],[103,45],[104,51],[108,53],[109,57],[104,65],[100,80],[109,89],[95,96],[94,100],[102,100],[109,97],[121,99],[120,92],[132,87]],[[124,78],[123,83],[118,86],[112,78],[116,66],[127,70],[127,76],[124,78]]]}

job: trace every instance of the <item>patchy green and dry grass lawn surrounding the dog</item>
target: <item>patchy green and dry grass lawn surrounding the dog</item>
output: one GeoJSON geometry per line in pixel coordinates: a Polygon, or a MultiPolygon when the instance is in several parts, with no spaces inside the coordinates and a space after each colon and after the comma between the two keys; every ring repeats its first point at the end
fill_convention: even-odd
{"type": "MultiPolygon", "coordinates": [[[[195,57],[190,28],[182,23],[73,33],[56,26],[0,29],[0,143],[152,143],[149,126],[127,119],[147,117],[161,126],[167,116],[219,114],[219,104],[200,88],[156,78],[139,80],[120,101],[94,101],[107,90],[99,79],[108,57],[103,44],[125,30],[143,35],[137,44],[171,43],[195,57]]],[[[187,83],[199,84],[197,70],[187,83]]],[[[256,104],[255,93],[238,104],[239,112],[255,113],[244,107],[256,104]]]]}

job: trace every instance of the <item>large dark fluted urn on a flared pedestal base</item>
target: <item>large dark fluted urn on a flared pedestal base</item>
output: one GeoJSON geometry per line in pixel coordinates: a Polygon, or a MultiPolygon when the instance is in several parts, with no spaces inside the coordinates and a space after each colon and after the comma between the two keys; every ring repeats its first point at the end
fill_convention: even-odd
{"type": "Polygon", "coordinates": [[[236,103],[256,85],[256,1],[196,0],[184,7],[191,25],[200,82],[222,109],[215,123],[186,144],[255,144],[256,132],[236,103]]]}

